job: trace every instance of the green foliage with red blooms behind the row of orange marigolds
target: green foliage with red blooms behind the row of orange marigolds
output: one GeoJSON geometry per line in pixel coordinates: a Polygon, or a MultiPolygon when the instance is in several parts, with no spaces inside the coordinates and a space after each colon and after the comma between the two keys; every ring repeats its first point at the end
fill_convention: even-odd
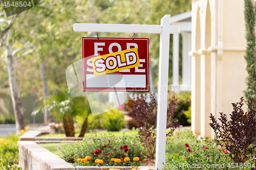
{"type": "MultiPolygon", "coordinates": [[[[77,162],[78,158],[90,156],[92,158],[91,162],[88,161],[90,165],[97,165],[94,163],[94,160],[97,158],[102,159],[104,165],[109,165],[112,163],[110,162],[111,158],[119,158],[123,160],[121,157],[125,155],[125,157],[129,157],[131,159],[129,163],[132,163],[132,159],[134,157],[139,157],[140,160],[145,157],[145,148],[136,134],[137,133],[134,132],[134,136],[132,137],[128,137],[125,134],[123,134],[122,137],[115,137],[111,133],[108,135],[101,134],[100,140],[98,140],[97,136],[93,137],[91,135],[91,138],[85,138],[83,141],[79,141],[73,146],[61,147],[61,158],[73,163],[77,162]],[[124,150],[124,148],[120,149],[120,146],[124,146],[126,144],[129,149],[128,151],[124,150]]],[[[129,166],[130,165],[132,164],[129,164],[129,166]]]]}

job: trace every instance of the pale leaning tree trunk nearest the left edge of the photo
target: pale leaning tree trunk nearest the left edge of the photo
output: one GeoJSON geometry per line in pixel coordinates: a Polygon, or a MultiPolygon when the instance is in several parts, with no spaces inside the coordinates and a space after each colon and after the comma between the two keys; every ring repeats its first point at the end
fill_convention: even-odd
{"type": "Polygon", "coordinates": [[[16,71],[14,68],[14,60],[12,56],[12,46],[9,44],[10,30],[7,32],[6,54],[5,61],[7,64],[9,84],[12,97],[12,106],[15,116],[16,134],[19,134],[20,130],[26,126],[24,110],[22,105],[22,99],[20,98],[20,91],[17,82],[16,71]]]}

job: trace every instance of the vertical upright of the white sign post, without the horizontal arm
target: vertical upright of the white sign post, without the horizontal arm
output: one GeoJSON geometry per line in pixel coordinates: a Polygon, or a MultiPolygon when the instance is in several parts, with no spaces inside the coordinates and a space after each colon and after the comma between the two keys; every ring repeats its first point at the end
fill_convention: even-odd
{"type": "Polygon", "coordinates": [[[165,161],[170,15],[162,17],[161,26],[156,136],[156,167],[158,169],[163,169],[162,163],[165,161]]]}

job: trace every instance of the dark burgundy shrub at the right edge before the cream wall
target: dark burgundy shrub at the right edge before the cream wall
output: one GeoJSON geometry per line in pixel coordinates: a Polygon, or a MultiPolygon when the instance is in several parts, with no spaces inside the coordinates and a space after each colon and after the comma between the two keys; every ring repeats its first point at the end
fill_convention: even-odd
{"type": "Polygon", "coordinates": [[[210,127],[214,130],[217,141],[221,147],[225,145],[229,151],[229,157],[237,163],[243,163],[248,154],[252,154],[256,148],[251,145],[256,136],[256,120],[254,119],[256,111],[252,107],[252,100],[248,101],[248,113],[242,109],[244,98],[239,103],[232,103],[233,111],[230,114],[230,120],[227,115],[220,113],[221,125],[217,122],[215,116],[210,114],[210,127]]]}

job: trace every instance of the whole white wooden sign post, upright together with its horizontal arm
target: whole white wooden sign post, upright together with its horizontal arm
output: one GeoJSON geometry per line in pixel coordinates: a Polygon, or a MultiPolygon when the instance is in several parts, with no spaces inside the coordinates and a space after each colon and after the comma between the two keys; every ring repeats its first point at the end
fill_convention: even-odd
{"type": "Polygon", "coordinates": [[[75,32],[116,32],[160,34],[156,167],[162,169],[165,161],[166,113],[168,92],[169,34],[180,32],[179,26],[170,26],[170,15],[161,19],[161,25],[126,25],[101,23],[75,23],[75,32]]]}

